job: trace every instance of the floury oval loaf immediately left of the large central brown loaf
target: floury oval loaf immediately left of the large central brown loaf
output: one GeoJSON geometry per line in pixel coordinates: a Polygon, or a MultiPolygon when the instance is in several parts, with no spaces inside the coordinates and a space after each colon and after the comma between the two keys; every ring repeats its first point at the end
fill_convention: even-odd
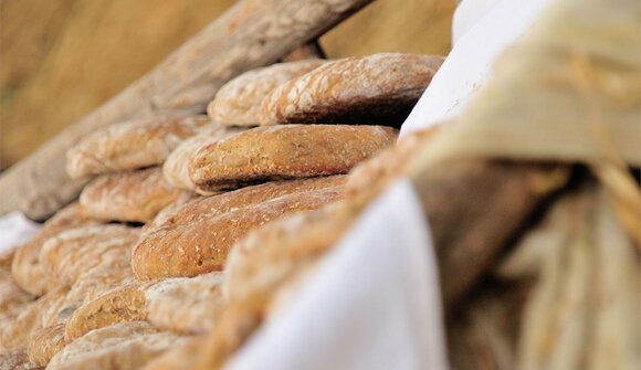
{"type": "Polygon", "coordinates": [[[72,286],[91,268],[126,256],[138,236],[138,229],[117,224],[72,229],[49,239],[40,261],[49,276],[72,286]]]}

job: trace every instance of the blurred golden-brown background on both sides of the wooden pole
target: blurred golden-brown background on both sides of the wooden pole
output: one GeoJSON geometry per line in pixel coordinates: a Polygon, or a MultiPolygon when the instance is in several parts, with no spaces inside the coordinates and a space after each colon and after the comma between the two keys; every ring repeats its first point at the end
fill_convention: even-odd
{"type": "MultiPolygon", "coordinates": [[[[232,0],[0,0],[0,170],[117,94],[232,0]]],[[[445,55],[454,0],[376,0],[320,39],[328,57],[445,55]]]]}

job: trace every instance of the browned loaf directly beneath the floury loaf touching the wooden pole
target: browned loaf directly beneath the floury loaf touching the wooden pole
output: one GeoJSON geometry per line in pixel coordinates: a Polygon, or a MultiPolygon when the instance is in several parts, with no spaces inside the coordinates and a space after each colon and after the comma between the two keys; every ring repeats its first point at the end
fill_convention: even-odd
{"type": "Polygon", "coordinates": [[[98,177],[85,187],[80,202],[86,212],[107,221],[149,222],[185,195],[171,187],[159,167],[98,177]]]}

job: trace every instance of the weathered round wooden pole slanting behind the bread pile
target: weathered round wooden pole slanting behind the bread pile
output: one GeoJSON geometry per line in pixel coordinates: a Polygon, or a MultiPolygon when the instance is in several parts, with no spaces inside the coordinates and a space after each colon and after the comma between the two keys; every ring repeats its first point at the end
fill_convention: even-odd
{"type": "Polygon", "coordinates": [[[44,219],[73,200],[85,181],[66,176],[65,152],[86,134],[159,112],[203,112],[230,78],[277,61],[370,1],[240,1],[155,70],[3,173],[0,214],[20,209],[44,219]]]}

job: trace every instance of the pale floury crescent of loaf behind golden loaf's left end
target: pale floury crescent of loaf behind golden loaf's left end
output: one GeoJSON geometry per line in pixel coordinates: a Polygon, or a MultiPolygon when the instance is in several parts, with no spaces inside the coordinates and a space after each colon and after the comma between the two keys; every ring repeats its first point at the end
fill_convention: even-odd
{"type": "MultiPolygon", "coordinates": [[[[216,125],[185,140],[167,157],[167,160],[162,165],[165,180],[175,188],[198,191],[198,188],[189,177],[189,162],[196,152],[207,145],[241,133],[242,130],[241,128],[216,125]]],[[[201,193],[209,194],[210,192],[201,193]]]]}

